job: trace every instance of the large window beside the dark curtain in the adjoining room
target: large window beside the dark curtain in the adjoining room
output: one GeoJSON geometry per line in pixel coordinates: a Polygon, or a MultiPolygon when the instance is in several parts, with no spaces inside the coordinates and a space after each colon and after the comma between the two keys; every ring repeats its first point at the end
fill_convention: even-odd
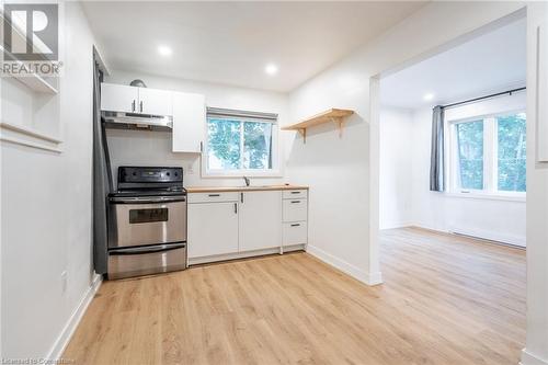
{"type": "Polygon", "coordinates": [[[450,123],[450,190],[466,194],[523,195],[525,124],[525,113],[450,123]]]}

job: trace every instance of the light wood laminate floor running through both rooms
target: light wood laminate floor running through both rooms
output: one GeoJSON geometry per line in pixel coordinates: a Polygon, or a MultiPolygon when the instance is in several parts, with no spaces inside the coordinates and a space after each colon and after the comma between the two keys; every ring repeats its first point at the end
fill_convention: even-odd
{"type": "Polygon", "coordinates": [[[517,364],[525,251],[419,229],[381,233],[385,284],[307,253],[106,282],[77,364],[517,364]]]}

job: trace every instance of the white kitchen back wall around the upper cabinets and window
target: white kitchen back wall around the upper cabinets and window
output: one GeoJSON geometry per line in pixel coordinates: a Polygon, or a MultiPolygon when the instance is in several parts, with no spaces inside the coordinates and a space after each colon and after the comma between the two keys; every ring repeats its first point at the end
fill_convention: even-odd
{"type": "MultiPolygon", "coordinates": [[[[244,110],[253,112],[277,113],[278,124],[287,123],[288,98],[286,94],[258,91],[252,89],[189,81],[176,78],[112,70],[106,82],[129,84],[141,79],[148,88],[201,93],[206,96],[207,106],[244,110]]],[[[284,140],[287,133],[279,132],[279,153],[282,174],[284,172],[284,140]]],[[[107,130],[109,150],[116,179],[117,167],[122,164],[180,166],[184,171],[185,186],[199,185],[242,185],[241,178],[202,178],[198,153],[172,152],[171,133],[141,130],[107,130]]],[[[252,178],[252,184],[281,184],[283,178],[252,178]],[[258,182],[259,180],[259,182],[258,182]]]]}

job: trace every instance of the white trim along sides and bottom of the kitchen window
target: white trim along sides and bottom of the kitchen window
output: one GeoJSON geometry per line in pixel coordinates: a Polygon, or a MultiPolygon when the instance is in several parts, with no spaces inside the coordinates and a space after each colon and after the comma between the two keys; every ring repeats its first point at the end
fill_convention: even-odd
{"type": "MultiPolygon", "coordinates": [[[[209,153],[209,136],[207,134],[207,119],[204,123],[205,141],[204,151],[202,152],[202,178],[204,179],[241,179],[242,176],[249,178],[283,178],[283,171],[279,156],[279,125],[277,122],[261,122],[272,124],[272,169],[238,169],[238,170],[210,170],[207,168],[207,160],[209,153]]],[[[253,122],[253,121],[250,121],[253,122]]],[[[243,127],[241,124],[240,128],[243,127]]],[[[242,133],[242,130],[240,130],[242,133]]],[[[240,138],[240,151],[243,151],[243,138],[240,138]]]]}

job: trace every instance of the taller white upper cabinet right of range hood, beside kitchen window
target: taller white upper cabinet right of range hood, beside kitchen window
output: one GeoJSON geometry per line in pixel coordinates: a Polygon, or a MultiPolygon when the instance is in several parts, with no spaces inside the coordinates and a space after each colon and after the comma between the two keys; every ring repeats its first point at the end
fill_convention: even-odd
{"type": "Polygon", "coordinates": [[[205,134],[205,98],[173,93],[173,152],[201,152],[205,134]]]}

